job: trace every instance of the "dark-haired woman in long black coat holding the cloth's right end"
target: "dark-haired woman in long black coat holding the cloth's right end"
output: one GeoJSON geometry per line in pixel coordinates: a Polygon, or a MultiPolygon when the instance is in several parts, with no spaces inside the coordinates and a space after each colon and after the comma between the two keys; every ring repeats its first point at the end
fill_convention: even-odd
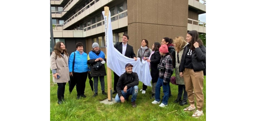
{"type": "Polygon", "coordinates": [[[152,77],[152,96],[150,99],[155,98],[155,90],[156,90],[156,82],[158,79],[159,70],[157,69],[157,65],[160,63],[161,55],[159,53],[160,43],[155,42],[152,46],[152,52],[149,56],[149,59],[146,61],[149,62],[149,67],[151,69],[151,77],[152,77]]]}

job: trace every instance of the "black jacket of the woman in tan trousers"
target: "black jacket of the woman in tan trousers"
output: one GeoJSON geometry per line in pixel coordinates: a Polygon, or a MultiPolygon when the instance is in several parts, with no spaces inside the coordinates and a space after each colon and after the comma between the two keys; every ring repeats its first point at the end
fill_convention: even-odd
{"type": "MultiPolygon", "coordinates": [[[[183,70],[185,69],[184,61],[188,51],[189,51],[189,44],[184,48],[184,51],[181,57],[181,63],[179,65],[179,72],[183,72],[183,70]]],[[[205,46],[200,46],[199,48],[196,48],[194,51],[192,51],[192,66],[195,72],[205,69],[203,61],[206,61],[206,48],[205,46]]]]}

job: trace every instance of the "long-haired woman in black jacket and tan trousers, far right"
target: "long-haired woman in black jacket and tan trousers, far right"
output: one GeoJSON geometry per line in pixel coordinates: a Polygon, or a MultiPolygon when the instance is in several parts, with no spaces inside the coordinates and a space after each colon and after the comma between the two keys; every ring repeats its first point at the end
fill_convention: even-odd
{"type": "Polygon", "coordinates": [[[190,106],[186,107],[184,111],[194,111],[192,117],[198,118],[203,115],[203,70],[205,69],[203,61],[206,60],[205,46],[198,44],[198,32],[196,30],[188,31],[186,40],[189,43],[184,47],[179,65],[179,75],[184,78],[184,84],[188,93],[188,101],[190,106]],[[195,99],[196,97],[196,107],[195,99]]]}

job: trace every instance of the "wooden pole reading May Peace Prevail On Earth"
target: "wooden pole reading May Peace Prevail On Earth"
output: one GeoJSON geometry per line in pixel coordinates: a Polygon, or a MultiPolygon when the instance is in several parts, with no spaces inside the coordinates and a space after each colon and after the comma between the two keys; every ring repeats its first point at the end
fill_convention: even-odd
{"type": "MultiPolygon", "coordinates": [[[[107,16],[107,30],[108,30],[109,7],[104,7],[104,12],[105,12],[105,16],[107,16]]],[[[105,19],[105,17],[104,17],[104,19],[105,19]]],[[[105,31],[108,32],[107,30],[105,30],[105,31]]],[[[105,35],[105,36],[106,36],[105,40],[106,40],[106,56],[107,56],[107,46],[108,46],[107,41],[109,41],[109,40],[107,40],[107,35],[105,35]]],[[[112,101],[112,74],[111,74],[111,69],[109,67],[107,67],[107,85],[108,85],[108,100],[112,101]]]]}

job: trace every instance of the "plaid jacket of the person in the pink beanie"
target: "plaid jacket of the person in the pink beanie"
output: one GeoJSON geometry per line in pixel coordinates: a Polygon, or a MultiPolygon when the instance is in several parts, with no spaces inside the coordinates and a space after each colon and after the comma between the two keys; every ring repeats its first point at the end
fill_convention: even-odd
{"type": "Polygon", "coordinates": [[[164,78],[164,83],[169,83],[171,75],[173,75],[172,58],[169,54],[163,56],[160,65],[166,68],[165,72],[159,71],[159,78],[164,78]]]}

